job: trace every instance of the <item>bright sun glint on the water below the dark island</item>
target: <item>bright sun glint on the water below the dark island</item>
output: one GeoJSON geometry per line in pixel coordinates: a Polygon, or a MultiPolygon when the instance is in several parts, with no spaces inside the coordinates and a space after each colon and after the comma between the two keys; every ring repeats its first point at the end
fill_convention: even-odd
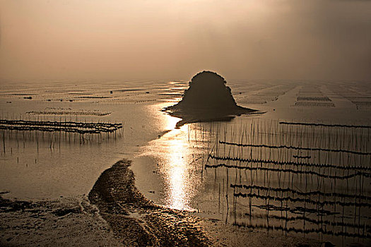
{"type": "Polygon", "coordinates": [[[149,143],[143,155],[154,157],[158,163],[158,174],[163,181],[159,203],[177,210],[194,210],[192,200],[201,183],[199,173],[194,172],[196,149],[192,140],[189,141],[192,126],[175,128],[179,120],[164,114],[165,134],[149,143]]]}

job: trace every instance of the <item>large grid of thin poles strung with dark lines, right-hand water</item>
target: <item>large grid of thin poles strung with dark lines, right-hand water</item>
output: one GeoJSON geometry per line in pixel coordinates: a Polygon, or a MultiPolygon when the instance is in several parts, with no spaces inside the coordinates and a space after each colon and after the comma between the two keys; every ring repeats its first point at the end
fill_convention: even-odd
{"type": "Polygon", "coordinates": [[[371,126],[252,119],[210,131],[204,168],[223,177],[226,220],[370,241],[371,126]]]}

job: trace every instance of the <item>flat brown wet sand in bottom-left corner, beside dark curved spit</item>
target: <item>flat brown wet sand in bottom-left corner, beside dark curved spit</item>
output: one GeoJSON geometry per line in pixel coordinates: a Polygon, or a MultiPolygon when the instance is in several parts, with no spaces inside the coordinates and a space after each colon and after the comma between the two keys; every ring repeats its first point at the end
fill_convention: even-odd
{"type": "Polygon", "coordinates": [[[0,198],[0,246],[122,246],[88,198],[0,198]]]}

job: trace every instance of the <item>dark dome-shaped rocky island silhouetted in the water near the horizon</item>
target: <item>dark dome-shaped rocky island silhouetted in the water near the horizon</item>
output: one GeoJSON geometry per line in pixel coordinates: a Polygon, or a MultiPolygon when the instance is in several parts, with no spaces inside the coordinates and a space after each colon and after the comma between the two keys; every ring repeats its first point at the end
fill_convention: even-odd
{"type": "Polygon", "coordinates": [[[226,84],[225,79],[215,72],[197,73],[189,82],[189,88],[184,91],[182,100],[163,111],[182,119],[177,127],[198,121],[230,120],[241,114],[258,112],[238,106],[226,84]]]}

